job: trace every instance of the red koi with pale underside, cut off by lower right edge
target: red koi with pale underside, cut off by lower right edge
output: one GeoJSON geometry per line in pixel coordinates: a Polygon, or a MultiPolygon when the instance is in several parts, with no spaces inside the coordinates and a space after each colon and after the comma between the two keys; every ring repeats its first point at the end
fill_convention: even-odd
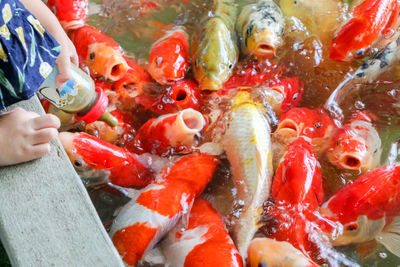
{"type": "Polygon", "coordinates": [[[324,203],[320,214],[338,224],[326,225],[334,246],[375,239],[400,257],[400,166],[361,175],[324,203]]]}

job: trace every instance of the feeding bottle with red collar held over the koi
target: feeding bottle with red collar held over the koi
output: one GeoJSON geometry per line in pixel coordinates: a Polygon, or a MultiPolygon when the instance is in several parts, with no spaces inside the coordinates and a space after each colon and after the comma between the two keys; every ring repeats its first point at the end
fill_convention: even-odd
{"type": "Polygon", "coordinates": [[[58,109],[76,114],[78,120],[87,123],[101,120],[114,127],[118,120],[106,111],[108,98],[93,80],[81,69],[71,64],[71,79],[61,87],[56,86],[57,65],[40,85],[39,93],[58,109]]]}

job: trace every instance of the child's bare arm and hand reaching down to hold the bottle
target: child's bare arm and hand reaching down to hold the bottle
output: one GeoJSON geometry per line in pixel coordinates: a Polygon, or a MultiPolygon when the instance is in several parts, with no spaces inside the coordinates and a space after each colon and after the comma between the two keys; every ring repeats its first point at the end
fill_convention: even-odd
{"type": "Polygon", "coordinates": [[[20,1],[61,45],[61,53],[56,60],[60,72],[57,77],[57,85],[60,86],[71,77],[70,62],[72,61],[75,65],[79,64],[75,47],[61,27],[56,16],[41,0],[20,1]]]}

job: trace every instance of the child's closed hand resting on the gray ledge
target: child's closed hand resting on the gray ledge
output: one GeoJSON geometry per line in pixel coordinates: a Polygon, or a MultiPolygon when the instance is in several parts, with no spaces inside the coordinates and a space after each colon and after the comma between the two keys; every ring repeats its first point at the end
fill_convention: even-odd
{"type": "Polygon", "coordinates": [[[0,166],[40,158],[50,152],[49,142],[58,136],[60,120],[51,114],[15,108],[0,115],[0,166]]]}

